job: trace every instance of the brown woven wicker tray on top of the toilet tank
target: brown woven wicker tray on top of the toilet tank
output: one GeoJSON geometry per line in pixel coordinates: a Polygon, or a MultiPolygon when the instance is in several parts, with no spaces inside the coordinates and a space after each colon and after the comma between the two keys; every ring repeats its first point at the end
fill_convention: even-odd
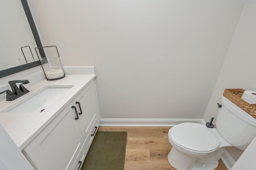
{"type": "Polygon", "coordinates": [[[250,105],[241,99],[244,89],[225,89],[223,96],[235,103],[238,107],[246,111],[249,115],[256,119],[256,104],[250,105]]]}

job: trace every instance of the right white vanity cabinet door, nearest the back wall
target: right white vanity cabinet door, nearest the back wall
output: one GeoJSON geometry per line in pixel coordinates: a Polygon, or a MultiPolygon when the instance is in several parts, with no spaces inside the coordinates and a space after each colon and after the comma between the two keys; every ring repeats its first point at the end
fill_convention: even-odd
{"type": "MultiPolygon", "coordinates": [[[[76,107],[78,112],[77,120],[79,123],[78,131],[80,133],[80,141],[85,141],[95,119],[97,118],[98,101],[95,99],[94,81],[92,81],[86,88],[73,100],[73,109],[76,107]],[[82,113],[82,114],[81,114],[82,113]],[[79,115],[80,114],[80,115],[79,115]]],[[[76,115],[76,113],[74,113],[76,115]]]]}

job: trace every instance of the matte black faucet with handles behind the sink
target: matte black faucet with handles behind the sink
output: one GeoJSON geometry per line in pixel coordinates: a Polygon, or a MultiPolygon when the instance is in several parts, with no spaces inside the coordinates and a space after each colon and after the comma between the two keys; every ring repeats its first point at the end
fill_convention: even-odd
{"type": "Polygon", "coordinates": [[[13,101],[29,92],[29,90],[23,86],[23,84],[29,83],[28,80],[14,80],[14,81],[9,81],[8,83],[11,86],[12,91],[8,89],[0,92],[0,94],[6,92],[6,101],[13,101]],[[16,83],[21,83],[19,85],[19,88],[17,87],[16,83]]]}

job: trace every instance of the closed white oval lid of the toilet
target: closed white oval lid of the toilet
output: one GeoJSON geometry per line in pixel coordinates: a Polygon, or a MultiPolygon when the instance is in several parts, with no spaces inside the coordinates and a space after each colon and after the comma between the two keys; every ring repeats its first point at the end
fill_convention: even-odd
{"type": "Polygon", "coordinates": [[[197,152],[213,151],[220,145],[212,132],[198,123],[176,125],[170,129],[169,136],[176,144],[197,152]]]}

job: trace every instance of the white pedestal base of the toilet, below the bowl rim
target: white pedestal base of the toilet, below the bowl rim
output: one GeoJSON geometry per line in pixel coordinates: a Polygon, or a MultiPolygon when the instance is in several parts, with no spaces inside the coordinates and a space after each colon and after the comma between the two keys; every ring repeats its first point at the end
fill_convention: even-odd
{"type": "Polygon", "coordinates": [[[172,147],[168,154],[168,162],[177,170],[214,170],[218,167],[218,160],[206,161],[180,152],[172,147]]]}

